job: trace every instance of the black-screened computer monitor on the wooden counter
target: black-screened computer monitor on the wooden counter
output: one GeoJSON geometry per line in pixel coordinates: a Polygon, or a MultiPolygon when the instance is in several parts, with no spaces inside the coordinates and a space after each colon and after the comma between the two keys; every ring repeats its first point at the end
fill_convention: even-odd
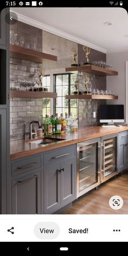
{"type": "Polygon", "coordinates": [[[124,123],[124,105],[100,105],[100,123],[124,123]]]}

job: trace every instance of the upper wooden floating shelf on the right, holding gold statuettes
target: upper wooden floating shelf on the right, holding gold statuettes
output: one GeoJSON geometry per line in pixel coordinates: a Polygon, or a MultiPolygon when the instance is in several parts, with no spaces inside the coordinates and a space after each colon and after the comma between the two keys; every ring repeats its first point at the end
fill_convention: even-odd
{"type": "Polygon", "coordinates": [[[73,71],[84,71],[87,73],[93,73],[100,76],[107,76],[107,75],[118,75],[117,71],[113,71],[112,69],[100,68],[94,65],[86,65],[80,67],[68,67],[66,68],[66,72],[73,72],[73,71]]]}

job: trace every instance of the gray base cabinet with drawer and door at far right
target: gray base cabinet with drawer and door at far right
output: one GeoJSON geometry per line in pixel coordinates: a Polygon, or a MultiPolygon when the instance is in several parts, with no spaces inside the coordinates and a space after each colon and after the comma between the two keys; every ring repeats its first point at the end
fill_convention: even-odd
{"type": "Polygon", "coordinates": [[[118,135],[118,172],[128,168],[128,131],[118,135]]]}

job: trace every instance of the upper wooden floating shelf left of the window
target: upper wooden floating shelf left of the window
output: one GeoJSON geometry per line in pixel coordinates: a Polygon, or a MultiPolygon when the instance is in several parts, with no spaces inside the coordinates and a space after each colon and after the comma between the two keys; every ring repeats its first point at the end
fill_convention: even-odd
{"type": "Polygon", "coordinates": [[[37,52],[36,50],[27,49],[10,44],[10,57],[42,63],[43,60],[57,61],[57,56],[37,52]]]}

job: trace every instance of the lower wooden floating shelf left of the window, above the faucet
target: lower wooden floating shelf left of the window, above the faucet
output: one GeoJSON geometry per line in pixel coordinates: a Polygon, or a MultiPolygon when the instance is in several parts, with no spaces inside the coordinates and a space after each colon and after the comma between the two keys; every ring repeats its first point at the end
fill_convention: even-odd
{"type": "Polygon", "coordinates": [[[57,93],[10,90],[10,97],[15,97],[15,98],[57,98],[57,93]]]}

